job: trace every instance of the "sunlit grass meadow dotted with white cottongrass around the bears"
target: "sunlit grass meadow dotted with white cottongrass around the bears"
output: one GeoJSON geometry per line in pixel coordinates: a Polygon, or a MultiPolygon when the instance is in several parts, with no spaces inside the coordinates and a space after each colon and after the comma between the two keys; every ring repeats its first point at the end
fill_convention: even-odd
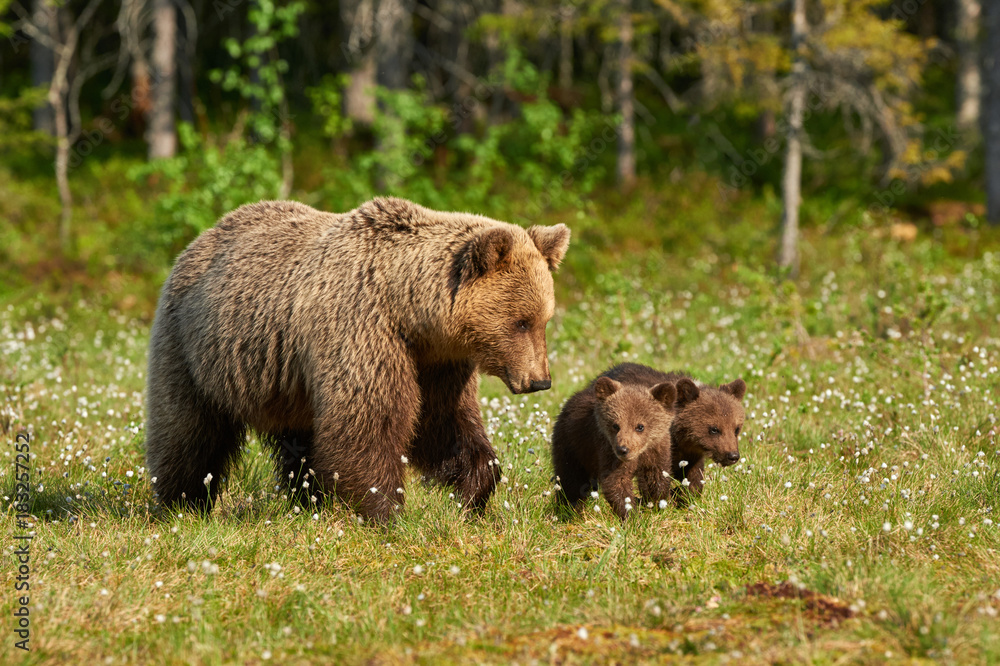
{"type": "Polygon", "coordinates": [[[210,516],[158,512],[152,292],[15,292],[0,534],[15,562],[26,429],[31,651],[4,567],[0,661],[1000,663],[1000,238],[929,236],[816,234],[796,283],[708,251],[608,255],[588,287],[557,276],[553,389],[483,380],[504,469],[485,515],[414,474],[388,529],[293,508],[255,441],[210,516]],[[746,379],[743,460],[686,510],[623,526],[602,498],[557,519],[552,423],[620,360],[746,379]]]}

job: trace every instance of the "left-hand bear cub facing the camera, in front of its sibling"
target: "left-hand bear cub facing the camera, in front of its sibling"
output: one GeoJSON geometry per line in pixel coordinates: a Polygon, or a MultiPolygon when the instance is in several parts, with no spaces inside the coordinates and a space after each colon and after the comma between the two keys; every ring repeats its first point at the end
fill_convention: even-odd
{"type": "Polygon", "coordinates": [[[612,368],[563,406],[552,430],[560,497],[575,507],[595,486],[622,520],[635,506],[633,478],[645,502],[670,495],[673,382],[645,386],[608,377],[612,368]]]}

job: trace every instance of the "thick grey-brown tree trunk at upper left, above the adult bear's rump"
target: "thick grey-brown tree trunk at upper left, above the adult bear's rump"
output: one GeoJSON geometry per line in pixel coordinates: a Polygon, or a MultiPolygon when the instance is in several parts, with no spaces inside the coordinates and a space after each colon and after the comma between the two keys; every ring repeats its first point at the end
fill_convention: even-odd
{"type": "Polygon", "coordinates": [[[177,9],[172,0],[156,0],[153,17],[153,103],[149,118],[149,159],[177,152],[174,102],[177,76],[177,9]]]}

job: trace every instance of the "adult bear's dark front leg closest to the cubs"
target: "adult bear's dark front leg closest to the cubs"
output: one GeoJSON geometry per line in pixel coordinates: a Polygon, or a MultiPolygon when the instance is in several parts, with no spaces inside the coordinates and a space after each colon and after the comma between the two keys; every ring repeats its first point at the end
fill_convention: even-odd
{"type": "Polygon", "coordinates": [[[411,457],[434,480],[454,486],[466,507],[482,511],[500,479],[479,412],[479,377],[471,363],[422,368],[421,415],[411,457]]]}

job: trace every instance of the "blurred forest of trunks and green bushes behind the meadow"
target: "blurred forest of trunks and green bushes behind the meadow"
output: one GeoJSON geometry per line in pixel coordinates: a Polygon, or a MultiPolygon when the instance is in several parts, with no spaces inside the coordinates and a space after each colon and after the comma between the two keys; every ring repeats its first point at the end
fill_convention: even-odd
{"type": "Polygon", "coordinates": [[[5,291],[158,280],[263,198],[792,277],[803,232],[1000,222],[1000,2],[0,0],[0,36],[5,291]]]}

